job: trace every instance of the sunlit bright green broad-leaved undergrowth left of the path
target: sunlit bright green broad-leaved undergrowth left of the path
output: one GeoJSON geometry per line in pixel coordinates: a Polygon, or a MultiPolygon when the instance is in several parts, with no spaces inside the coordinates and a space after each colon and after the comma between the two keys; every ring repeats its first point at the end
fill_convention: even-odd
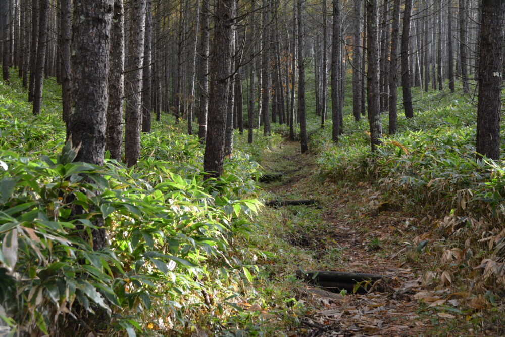
{"type": "Polygon", "coordinates": [[[135,167],[73,162],[59,86],[46,81],[32,116],[12,77],[0,86],[2,333],[276,334],[302,310],[273,286],[280,255],[248,244],[261,225],[258,143],[237,136],[223,176],[204,181],[204,147],[163,115],[135,167]],[[94,251],[102,225],[109,244],[94,251]]]}

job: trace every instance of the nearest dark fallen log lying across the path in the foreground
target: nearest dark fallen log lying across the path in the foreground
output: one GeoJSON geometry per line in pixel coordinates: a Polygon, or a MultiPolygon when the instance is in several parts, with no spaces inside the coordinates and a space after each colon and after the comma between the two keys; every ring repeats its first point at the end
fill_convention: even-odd
{"type": "Polygon", "coordinates": [[[346,290],[348,293],[366,293],[374,282],[384,277],[383,275],[377,274],[339,271],[302,272],[300,270],[296,272],[296,275],[309,284],[317,285],[336,293],[342,290],[346,290]],[[361,284],[357,286],[358,283],[361,284]]]}

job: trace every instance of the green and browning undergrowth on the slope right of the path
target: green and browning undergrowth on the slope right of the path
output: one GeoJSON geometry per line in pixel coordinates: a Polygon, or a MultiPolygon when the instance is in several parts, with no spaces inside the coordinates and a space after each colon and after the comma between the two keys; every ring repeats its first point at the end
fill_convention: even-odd
{"type": "MultiPolygon", "coordinates": [[[[398,132],[384,134],[375,154],[368,121],[355,122],[346,107],[344,135],[336,145],[329,128],[311,138],[318,175],[375,184],[394,209],[418,219],[409,234],[430,242],[423,260],[434,270],[476,281],[477,292],[502,294],[505,279],[497,270],[505,256],[505,143],[500,160],[476,160],[472,98],[419,89],[414,97],[415,117],[405,118],[399,104],[398,132]],[[448,257],[451,252],[462,254],[456,259],[448,257]]],[[[387,113],[382,120],[387,131],[387,113]]]]}

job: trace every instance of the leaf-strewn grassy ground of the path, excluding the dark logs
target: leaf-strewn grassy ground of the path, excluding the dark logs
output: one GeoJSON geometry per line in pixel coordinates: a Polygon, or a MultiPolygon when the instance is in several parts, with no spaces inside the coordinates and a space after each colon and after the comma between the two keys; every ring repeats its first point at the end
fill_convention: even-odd
{"type": "Polygon", "coordinates": [[[418,245],[422,237],[409,233],[409,227],[421,219],[407,217],[400,207],[383,202],[384,196],[370,183],[322,181],[313,156],[302,155],[297,142],[284,142],[271,149],[261,165],[266,173],[283,174],[280,181],[262,184],[267,198],[319,200],[318,206],[283,206],[267,211],[278,212],[276,217],[284,219],[278,235],[310,256],[305,260],[307,265],[295,261],[295,267],[387,277],[366,294],[330,293],[307,284],[300,286],[296,299],[311,309],[300,319],[300,326],[289,328],[287,335],[475,334],[473,326],[465,323],[469,316],[465,320],[457,309],[459,293],[449,294],[450,286],[444,286],[443,277],[438,287],[423,286],[423,277],[435,269],[435,262],[429,265],[426,259],[418,259],[419,254],[429,252],[418,245]]]}

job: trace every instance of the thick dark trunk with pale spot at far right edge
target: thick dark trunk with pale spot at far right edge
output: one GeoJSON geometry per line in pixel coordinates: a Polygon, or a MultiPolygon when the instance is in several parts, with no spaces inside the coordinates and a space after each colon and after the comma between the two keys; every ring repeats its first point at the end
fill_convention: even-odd
{"type": "Polygon", "coordinates": [[[477,107],[478,158],[486,156],[499,159],[504,15],[505,2],[502,0],[482,1],[477,107]]]}

